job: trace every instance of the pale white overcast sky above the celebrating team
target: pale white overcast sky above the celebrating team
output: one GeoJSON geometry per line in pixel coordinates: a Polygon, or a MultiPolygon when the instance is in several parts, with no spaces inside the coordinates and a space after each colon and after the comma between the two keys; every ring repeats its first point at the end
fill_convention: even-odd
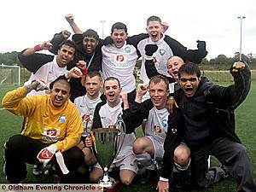
{"type": "Polygon", "coordinates": [[[233,57],[240,36],[241,52],[256,56],[255,0],[2,0],[0,5],[0,53],[34,47],[64,29],[72,32],[65,15],[73,14],[83,31],[94,29],[101,38],[102,26],[106,37],[118,21],[130,36],[146,32],[146,20],[157,15],[169,24],[166,34],[188,49],[196,49],[196,40],[206,41],[208,60],[220,54],[233,57]],[[246,16],[242,32],[241,15],[246,16]]]}

